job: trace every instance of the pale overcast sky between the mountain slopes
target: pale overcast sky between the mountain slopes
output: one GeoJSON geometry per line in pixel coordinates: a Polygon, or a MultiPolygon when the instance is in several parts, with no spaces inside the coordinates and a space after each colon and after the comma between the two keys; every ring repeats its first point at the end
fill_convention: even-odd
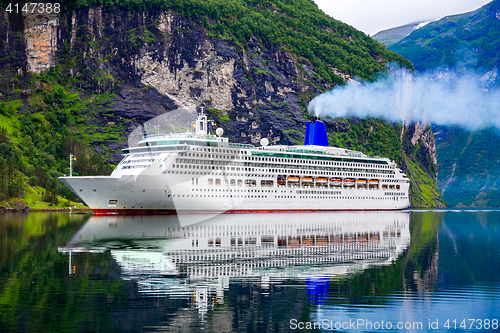
{"type": "Polygon", "coordinates": [[[313,0],[336,20],[373,36],[401,25],[476,10],[491,0],[313,0]]]}

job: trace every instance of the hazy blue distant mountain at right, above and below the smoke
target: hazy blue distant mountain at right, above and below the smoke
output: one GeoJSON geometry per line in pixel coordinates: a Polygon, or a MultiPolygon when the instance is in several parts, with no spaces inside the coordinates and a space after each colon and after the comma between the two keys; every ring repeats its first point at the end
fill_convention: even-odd
{"type": "MultiPolygon", "coordinates": [[[[500,0],[431,22],[388,49],[409,59],[421,74],[479,77],[484,90],[499,93],[500,0]]],[[[499,131],[434,126],[434,132],[438,186],[448,205],[499,207],[499,131]]]]}

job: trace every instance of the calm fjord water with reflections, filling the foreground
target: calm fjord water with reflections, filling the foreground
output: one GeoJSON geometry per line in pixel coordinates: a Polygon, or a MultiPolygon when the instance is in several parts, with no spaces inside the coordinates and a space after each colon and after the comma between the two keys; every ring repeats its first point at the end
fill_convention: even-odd
{"type": "Polygon", "coordinates": [[[206,218],[1,214],[0,331],[499,330],[499,211],[206,218]]]}

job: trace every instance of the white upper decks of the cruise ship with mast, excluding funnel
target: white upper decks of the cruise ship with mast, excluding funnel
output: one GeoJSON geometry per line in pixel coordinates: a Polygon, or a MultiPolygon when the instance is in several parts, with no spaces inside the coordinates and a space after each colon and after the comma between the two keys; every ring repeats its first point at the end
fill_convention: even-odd
{"type": "MultiPolygon", "coordinates": [[[[178,153],[180,158],[194,158],[198,165],[220,163],[234,166],[263,168],[324,168],[344,167],[347,169],[370,169],[373,173],[386,173],[394,170],[396,164],[388,158],[368,156],[359,151],[320,145],[267,145],[231,143],[222,137],[223,130],[218,128],[217,135],[209,134],[208,121],[203,112],[195,124],[196,131],[185,133],[155,134],[144,136],[137,147],[123,149],[125,158],[120,162],[121,169],[127,174],[137,173],[148,168],[160,155],[165,160],[171,153],[178,153]],[[263,162],[266,162],[263,164],[263,162]],[[134,171],[130,169],[136,169],[134,171]]],[[[267,141],[267,140],[264,140],[267,141]]],[[[346,170],[347,170],[346,169],[346,170]]],[[[326,169],[325,169],[326,170],[326,169]]]]}

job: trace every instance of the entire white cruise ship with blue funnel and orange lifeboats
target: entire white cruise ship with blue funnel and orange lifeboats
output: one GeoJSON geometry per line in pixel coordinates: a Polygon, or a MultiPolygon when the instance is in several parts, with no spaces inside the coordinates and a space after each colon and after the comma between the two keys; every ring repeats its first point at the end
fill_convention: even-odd
{"type": "Polygon", "coordinates": [[[328,147],[326,125],[307,123],[304,145],[256,147],[194,132],[146,135],[110,176],[60,177],[96,214],[401,210],[407,176],[394,161],[328,147]]]}

